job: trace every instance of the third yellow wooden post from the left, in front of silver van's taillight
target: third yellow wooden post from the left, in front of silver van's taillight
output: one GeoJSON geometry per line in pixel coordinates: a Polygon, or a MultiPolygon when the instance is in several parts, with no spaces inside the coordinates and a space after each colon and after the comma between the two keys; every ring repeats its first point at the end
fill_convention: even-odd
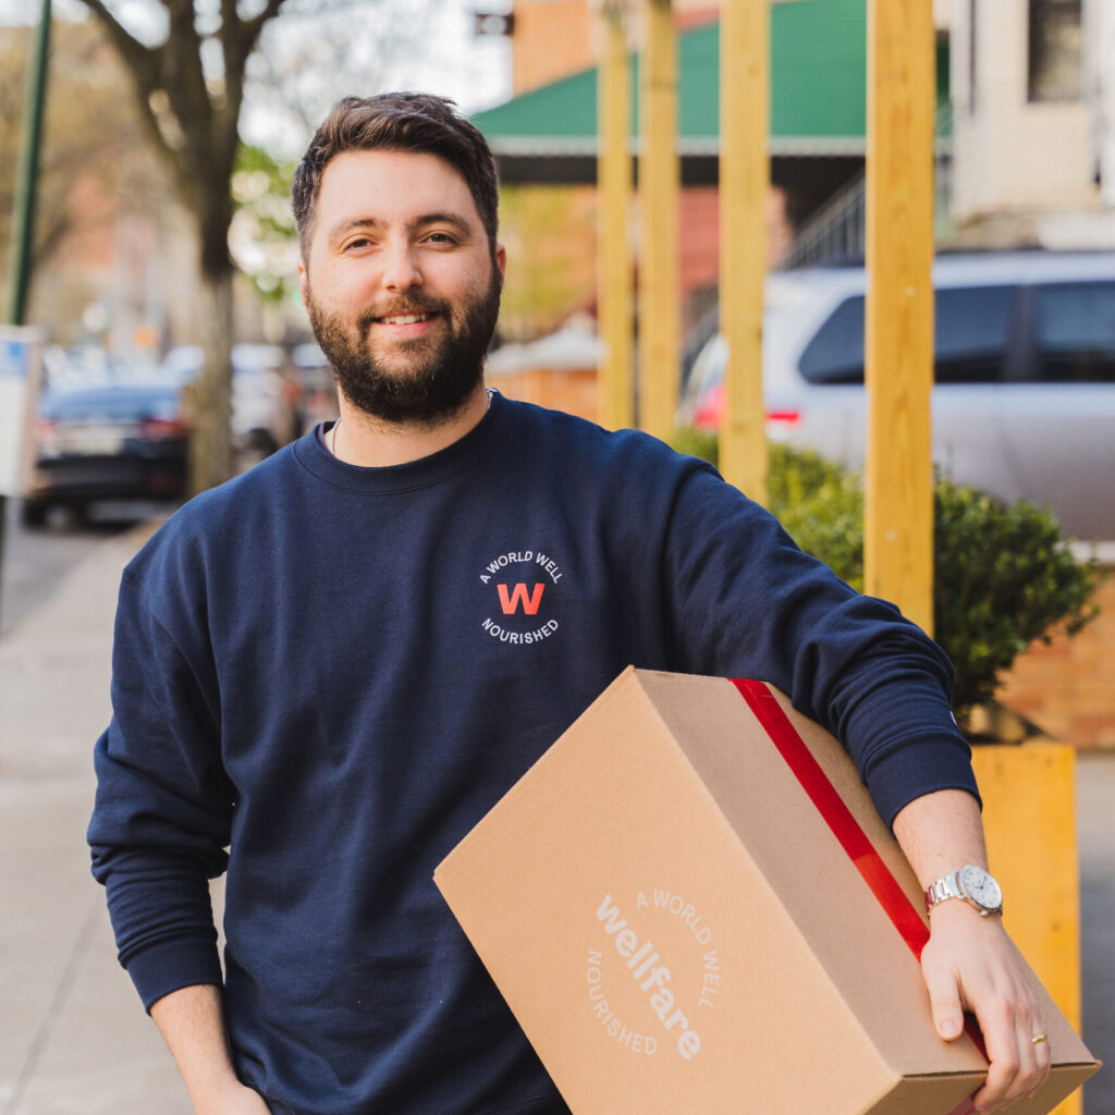
{"type": "Polygon", "coordinates": [[[766,503],[763,279],[769,187],[770,10],[767,0],[720,6],[720,332],[728,342],[720,472],[766,503]]]}

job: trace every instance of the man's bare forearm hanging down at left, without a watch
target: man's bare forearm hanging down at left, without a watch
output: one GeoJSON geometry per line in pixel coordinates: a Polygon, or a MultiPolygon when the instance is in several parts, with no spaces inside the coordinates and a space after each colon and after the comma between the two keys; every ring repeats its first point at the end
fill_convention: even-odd
{"type": "Polygon", "coordinates": [[[266,1112],[263,1101],[236,1078],[220,988],[205,983],[172,991],[153,1004],[151,1017],[169,1046],[198,1115],[266,1112]]]}

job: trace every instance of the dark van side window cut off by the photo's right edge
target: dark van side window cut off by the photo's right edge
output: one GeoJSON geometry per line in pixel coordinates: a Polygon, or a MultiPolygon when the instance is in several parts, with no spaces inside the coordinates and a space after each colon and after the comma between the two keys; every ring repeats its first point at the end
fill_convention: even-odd
{"type": "Polygon", "coordinates": [[[1115,281],[1037,287],[1038,378],[1115,382],[1115,281]]]}

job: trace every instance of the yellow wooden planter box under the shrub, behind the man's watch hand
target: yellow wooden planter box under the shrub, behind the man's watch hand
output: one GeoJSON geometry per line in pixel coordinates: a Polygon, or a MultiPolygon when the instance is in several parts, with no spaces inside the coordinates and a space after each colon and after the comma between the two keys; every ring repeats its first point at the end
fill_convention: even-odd
{"type": "MultiPolygon", "coordinates": [[[[1015,943],[1080,1029],[1080,886],[1076,752],[1067,744],[972,748],[983,796],[988,863],[1002,883],[1002,920],[1015,943]]],[[[1053,1115],[1080,1115],[1073,1093],[1053,1115]]]]}

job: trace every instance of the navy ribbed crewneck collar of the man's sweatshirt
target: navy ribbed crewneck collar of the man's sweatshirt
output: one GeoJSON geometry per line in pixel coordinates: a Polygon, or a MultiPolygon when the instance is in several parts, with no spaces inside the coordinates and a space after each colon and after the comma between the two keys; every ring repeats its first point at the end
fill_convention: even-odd
{"type": "Polygon", "coordinates": [[[294,443],[294,457],[308,473],[346,492],[362,495],[411,492],[439,484],[478,465],[502,438],[510,417],[506,411],[505,400],[495,392],[484,417],[464,437],[405,465],[366,467],[338,460],[322,438],[322,433],[331,425],[324,423],[294,443]]]}

